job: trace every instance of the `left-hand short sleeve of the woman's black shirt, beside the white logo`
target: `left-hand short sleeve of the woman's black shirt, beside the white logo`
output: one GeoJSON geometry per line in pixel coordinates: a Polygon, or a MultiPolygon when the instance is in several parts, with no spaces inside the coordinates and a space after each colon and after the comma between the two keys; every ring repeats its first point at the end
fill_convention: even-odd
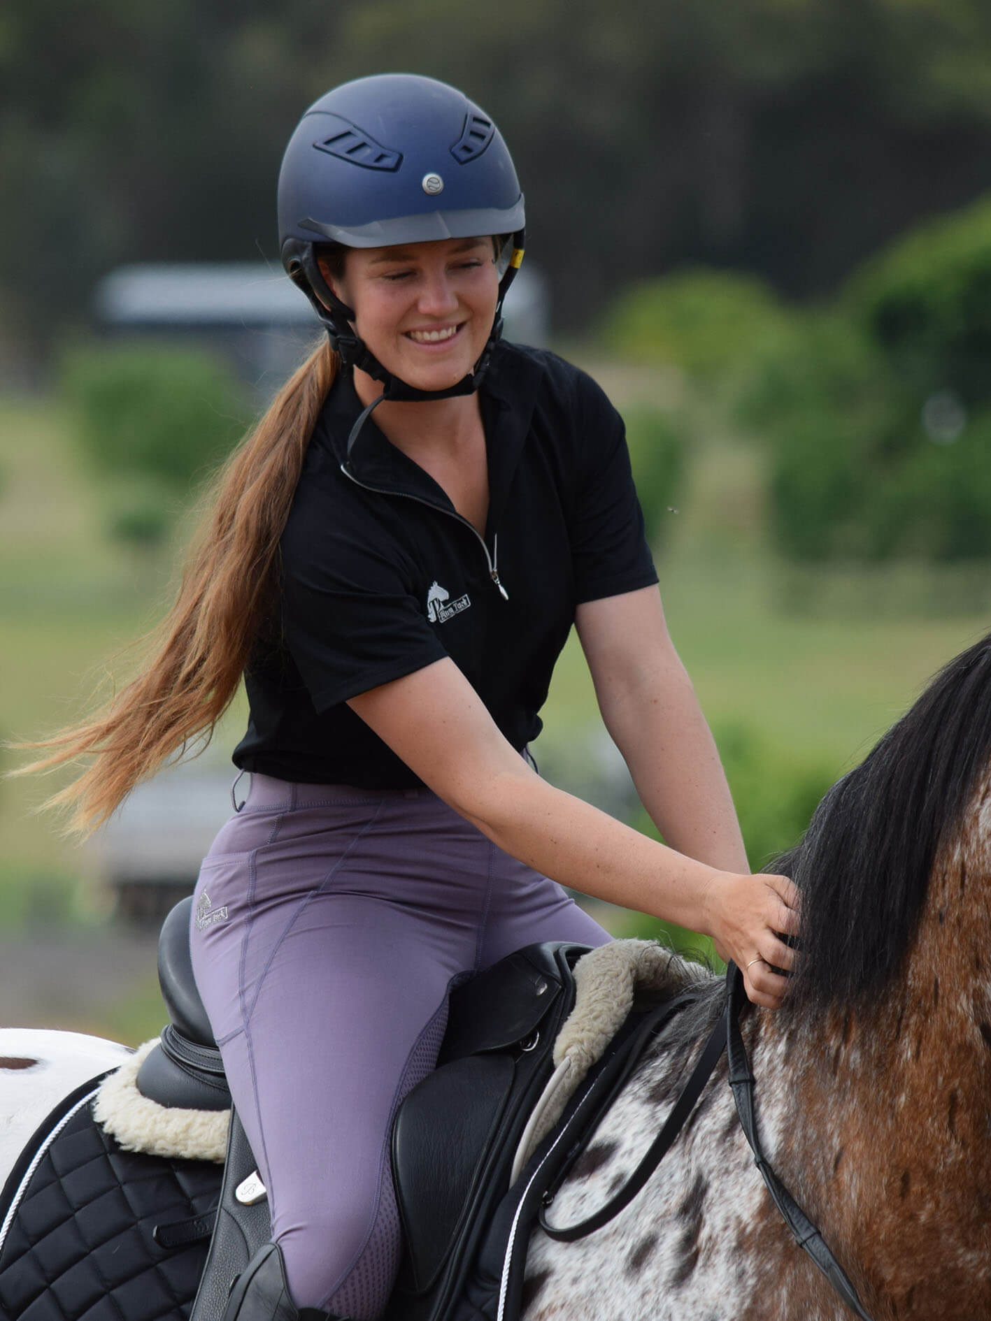
{"type": "Polygon", "coordinates": [[[283,538],[283,639],[317,712],[447,655],[402,556],[369,542],[299,522],[283,538]]]}

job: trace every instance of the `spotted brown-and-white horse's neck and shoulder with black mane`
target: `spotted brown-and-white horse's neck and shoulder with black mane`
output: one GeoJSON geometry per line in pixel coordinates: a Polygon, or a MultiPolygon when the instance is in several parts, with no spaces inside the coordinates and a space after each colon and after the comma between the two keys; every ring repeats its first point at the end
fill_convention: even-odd
{"type": "MultiPolygon", "coordinates": [[[[801,960],[785,1007],[743,1021],[757,1128],[873,1321],[991,1318],[990,762],[984,639],[832,787],[805,840],[774,864],[802,890],[801,960]]],[[[550,1222],[584,1218],[625,1182],[723,1000],[721,979],[699,987],[550,1222]]],[[[17,1053],[28,1054],[24,1036],[17,1053]]],[[[768,1197],[725,1059],[624,1211],[576,1243],[540,1230],[530,1243],[525,1321],[850,1314],[768,1197]]]]}

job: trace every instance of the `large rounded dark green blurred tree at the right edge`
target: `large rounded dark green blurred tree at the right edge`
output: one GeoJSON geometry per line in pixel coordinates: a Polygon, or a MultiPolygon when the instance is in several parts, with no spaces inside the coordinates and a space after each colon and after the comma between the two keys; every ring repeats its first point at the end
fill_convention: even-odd
{"type": "Polygon", "coordinates": [[[810,313],[739,416],[798,560],[991,556],[991,202],[929,222],[810,313]]]}

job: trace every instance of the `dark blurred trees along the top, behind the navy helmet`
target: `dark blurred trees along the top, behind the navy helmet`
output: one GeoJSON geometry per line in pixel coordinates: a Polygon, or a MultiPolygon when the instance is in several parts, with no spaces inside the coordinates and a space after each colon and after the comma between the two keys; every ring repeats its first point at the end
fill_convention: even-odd
{"type": "Polygon", "coordinates": [[[984,0],[8,0],[3,321],[44,343],[124,262],[275,262],[301,110],[388,69],[495,115],[562,333],[686,264],[822,296],[991,188],[990,50],[984,0]]]}

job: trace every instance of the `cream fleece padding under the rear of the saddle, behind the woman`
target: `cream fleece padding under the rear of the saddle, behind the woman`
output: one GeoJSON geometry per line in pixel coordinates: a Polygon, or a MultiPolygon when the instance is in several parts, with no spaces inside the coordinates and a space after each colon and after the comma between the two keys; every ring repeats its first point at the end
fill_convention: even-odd
{"type": "Polygon", "coordinates": [[[124,1151],[178,1160],[223,1164],[229,1110],[181,1110],[160,1106],[137,1090],[137,1071],[159,1038],[143,1046],[100,1083],[92,1112],[124,1151]]]}

